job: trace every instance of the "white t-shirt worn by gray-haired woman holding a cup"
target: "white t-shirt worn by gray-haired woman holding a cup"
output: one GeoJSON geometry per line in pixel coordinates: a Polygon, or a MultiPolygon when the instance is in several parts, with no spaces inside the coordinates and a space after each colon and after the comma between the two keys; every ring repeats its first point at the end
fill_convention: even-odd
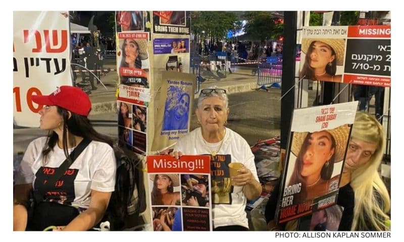
{"type": "MultiPolygon", "coordinates": [[[[197,128],[178,140],[174,151],[184,155],[206,155],[219,149],[221,142],[204,142],[201,129],[197,128]],[[207,147],[209,146],[209,148],[207,147]]],[[[211,159],[212,203],[214,227],[240,225],[248,228],[246,201],[242,187],[229,185],[230,162],[241,162],[258,180],[257,169],[248,143],[239,134],[226,128],[226,134],[218,155],[211,159]],[[216,187],[217,186],[217,187],[216,187]]]]}

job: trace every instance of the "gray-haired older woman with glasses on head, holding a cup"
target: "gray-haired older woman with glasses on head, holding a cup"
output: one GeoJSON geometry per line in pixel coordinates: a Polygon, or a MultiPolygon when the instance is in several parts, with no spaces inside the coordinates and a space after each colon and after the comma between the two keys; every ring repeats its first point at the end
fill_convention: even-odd
{"type": "Polygon", "coordinates": [[[181,137],[171,155],[211,155],[214,230],[248,230],[246,201],[258,198],[262,187],[248,143],[225,127],[226,90],[216,86],[201,90],[195,114],[200,127],[181,137]],[[230,177],[229,164],[236,162],[242,168],[230,177]]]}

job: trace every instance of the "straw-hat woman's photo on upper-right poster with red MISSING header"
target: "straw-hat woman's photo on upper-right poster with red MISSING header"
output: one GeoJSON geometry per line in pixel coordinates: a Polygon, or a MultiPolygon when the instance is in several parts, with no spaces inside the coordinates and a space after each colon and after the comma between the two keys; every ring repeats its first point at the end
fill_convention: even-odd
{"type": "Polygon", "coordinates": [[[301,51],[306,54],[301,79],[341,82],[342,75],[335,74],[343,65],[345,39],[303,39],[301,51]]]}

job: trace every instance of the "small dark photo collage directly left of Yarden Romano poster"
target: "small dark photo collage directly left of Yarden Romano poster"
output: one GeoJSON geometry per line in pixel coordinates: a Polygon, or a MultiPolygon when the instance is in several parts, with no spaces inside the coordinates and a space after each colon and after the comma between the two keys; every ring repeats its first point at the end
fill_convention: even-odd
{"type": "Polygon", "coordinates": [[[119,147],[138,154],[146,152],[147,108],[118,101],[119,147]]]}

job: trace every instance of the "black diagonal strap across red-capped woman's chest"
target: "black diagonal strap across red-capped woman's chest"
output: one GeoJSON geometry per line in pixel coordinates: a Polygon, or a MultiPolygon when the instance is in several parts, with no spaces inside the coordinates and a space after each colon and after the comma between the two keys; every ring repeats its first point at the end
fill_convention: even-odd
{"type": "Polygon", "coordinates": [[[44,197],[44,192],[48,191],[52,187],[55,186],[56,181],[58,181],[62,175],[66,172],[66,170],[70,167],[71,164],[76,160],[76,158],[83,152],[83,150],[90,144],[91,140],[83,139],[80,144],[74,148],[74,150],[70,153],[69,157],[72,162],[69,161],[69,159],[66,159],[58,169],[56,169],[55,174],[51,176],[47,180],[47,182],[43,185],[43,188],[41,189],[42,193],[39,192],[37,189],[34,190],[34,196],[36,202],[42,202],[43,197],[44,197]]]}

